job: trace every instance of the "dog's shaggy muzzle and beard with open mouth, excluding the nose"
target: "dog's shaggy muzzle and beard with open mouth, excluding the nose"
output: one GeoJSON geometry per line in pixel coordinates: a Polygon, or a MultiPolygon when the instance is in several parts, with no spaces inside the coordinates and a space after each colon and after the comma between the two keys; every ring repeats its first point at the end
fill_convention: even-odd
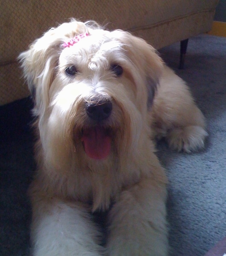
{"type": "MultiPolygon", "coordinates": [[[[116,86],[113,82],[104,81],[102,87],[99,84],[99,93],[112,102],[110,116],[93,120],[86,112],[86,102],[93,97],[93,87],[73,83],[61,89],[62,81],[55,79],[50,88],[49,116],[41,129],[43,155],[48,166],[59,173],[66,170],[73,173],[89,171],[87,166],[92,162],[90,169],[104,172],[101,164],[105,162],[118,162],[121,168],[130,161],[142,130],[142,125],[137,125],[142,124],[142,115],[122,84],[116,86]]],[[[133,86],[128,79],[125,84],[133,86]]]]}

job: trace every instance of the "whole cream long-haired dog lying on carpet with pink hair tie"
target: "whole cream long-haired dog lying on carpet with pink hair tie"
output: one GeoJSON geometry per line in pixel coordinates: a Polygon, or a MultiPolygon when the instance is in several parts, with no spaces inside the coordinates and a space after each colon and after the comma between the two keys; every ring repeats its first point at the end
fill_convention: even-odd
{"type": "Polygon", "coordinates": [[[77,20],[19,56],[34,100],[34,256],[166,256],[167,177],[154,139],[203,148],[203,114],[143,39],[77,20]],[[93,213],[106,212],[106,242],[93,213]]]}

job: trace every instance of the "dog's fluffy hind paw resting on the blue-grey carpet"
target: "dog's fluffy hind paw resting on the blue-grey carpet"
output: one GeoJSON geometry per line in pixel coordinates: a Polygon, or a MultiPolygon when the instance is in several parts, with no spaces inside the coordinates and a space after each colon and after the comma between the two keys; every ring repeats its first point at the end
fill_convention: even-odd
{"type": "Polygon", "coordinates": [[[190,153],[204,147],[207,135],[207,132],[201,126],[190,125],[169,131],[166,140],[170,148],[190,153]]]}

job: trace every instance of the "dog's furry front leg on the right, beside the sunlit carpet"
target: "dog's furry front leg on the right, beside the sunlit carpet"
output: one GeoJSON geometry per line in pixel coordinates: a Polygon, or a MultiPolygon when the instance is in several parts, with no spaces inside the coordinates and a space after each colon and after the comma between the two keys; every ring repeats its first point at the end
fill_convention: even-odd
{"type": "Polygon", "coordinates": [[[166,187],[150,179],[122,192],[109,214],[109,256],[166,256],[166,187]]]}

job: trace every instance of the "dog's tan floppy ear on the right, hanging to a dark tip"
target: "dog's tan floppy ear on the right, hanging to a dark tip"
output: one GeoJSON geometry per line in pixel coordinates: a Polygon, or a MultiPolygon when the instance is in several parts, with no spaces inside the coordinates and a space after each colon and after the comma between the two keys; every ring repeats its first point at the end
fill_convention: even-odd
{"type": "Polygon", "coordinates": [[[142,38],[122,30],[116,30],[115,33],[119,33],[118,37],[122,38],[122,44],[125,44],[127,55],[137,69],[139,69],[142,77],[146,79],[147,105],[149,108],[152,105],[159,79],[162,76],[164,62],[156,50],[142,38]]]}

